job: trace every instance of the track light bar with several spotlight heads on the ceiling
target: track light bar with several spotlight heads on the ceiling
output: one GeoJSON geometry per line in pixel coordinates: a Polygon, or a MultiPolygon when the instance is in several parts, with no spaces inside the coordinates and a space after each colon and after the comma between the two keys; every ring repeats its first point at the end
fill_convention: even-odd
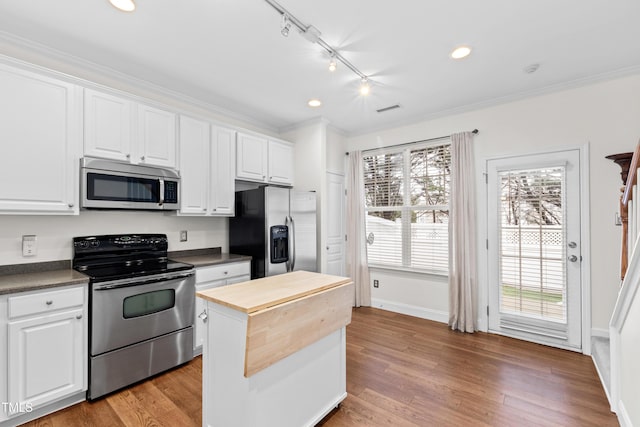
{"type": "Polygon", "coordinates": [[[267,2],[272,8],[274,8],[280,15],[282,15],[280,32],[283,36],[287,37],[289,35],[289,31],[291,30],[291,26],[295,26],[302,37],[304,37],[311,43],[319,45],[331,56],[331,59],[329,60],[329,71],[335,71],[338,66],[338,61],[340,61],[345,67],[353,71],[360,78],[360,94],[368,95],[371,92],[370,80],[367,75],[358,70],[344,56],[340,55],[340,52],[338,52],[333,46],[325,42],[320,37],[321,33],[316,27],[314,27],[313,25],[304,24],[298,18],[289,13],[287,9],[278,4],[276,0],[264,1],[267,2]]]}

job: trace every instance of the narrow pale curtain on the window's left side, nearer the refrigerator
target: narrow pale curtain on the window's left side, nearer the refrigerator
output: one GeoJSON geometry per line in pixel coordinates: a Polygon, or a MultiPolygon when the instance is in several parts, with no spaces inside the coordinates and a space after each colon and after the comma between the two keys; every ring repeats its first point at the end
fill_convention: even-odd
{"type": "Polygon", "coordinates": [[[347,251],[351,263],[349,276],[355,284],[356,307],[371,305],[365,215],[362,153],[352,151],[347,181],[347,251]]]}

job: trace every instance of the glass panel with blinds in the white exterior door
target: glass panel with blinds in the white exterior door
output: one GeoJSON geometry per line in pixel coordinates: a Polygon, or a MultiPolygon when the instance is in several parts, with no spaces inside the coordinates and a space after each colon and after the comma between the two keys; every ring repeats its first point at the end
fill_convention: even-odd
{"type": "Polygon", "coordinates": [[[565,168],[498,173],[500,312],[567,322],[565,168]]]}

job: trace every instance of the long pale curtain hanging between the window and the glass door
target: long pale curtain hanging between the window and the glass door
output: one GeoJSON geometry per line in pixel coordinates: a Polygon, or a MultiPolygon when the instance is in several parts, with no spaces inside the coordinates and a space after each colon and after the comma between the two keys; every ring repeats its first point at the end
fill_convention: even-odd
{"type": "Polygon", "coordinates": [[[449,326],[476,330],[476,218],[473,133],[451,135],[449,326]]]}

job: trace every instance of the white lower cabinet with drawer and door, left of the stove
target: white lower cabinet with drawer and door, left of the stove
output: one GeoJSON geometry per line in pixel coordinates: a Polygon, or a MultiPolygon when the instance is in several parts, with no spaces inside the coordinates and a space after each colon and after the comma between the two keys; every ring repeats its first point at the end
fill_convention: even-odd
{"type": "Polygon", "coordinates": [[[5,298],[7,386],[0,397],[9,405],[2,415],[24,415],[86,390],[86,285],[5,298]]]}

